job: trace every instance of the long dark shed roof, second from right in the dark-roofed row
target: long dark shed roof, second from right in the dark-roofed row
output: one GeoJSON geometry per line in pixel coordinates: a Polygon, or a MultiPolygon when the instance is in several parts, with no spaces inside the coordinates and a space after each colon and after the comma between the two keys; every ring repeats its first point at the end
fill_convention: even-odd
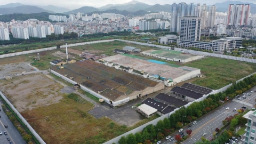
{"type": "Polygon", "coordinates": [[[188,89],[185,89],[185,88],[179,87],[179,86],[173,87],[173,89],[171,91],[185,95],[186,97],[194,98],[194,99],[199,99],[199,98],[203,97],[202,93],[198,93],[193,90],[188,90],[188,89]]]}

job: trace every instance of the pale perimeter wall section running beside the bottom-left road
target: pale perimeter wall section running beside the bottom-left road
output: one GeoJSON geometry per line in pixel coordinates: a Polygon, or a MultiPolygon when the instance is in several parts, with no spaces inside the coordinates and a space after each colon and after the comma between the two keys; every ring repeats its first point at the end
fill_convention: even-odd
{"type": "Polygon", "coordinates": [[[28,127],[29,131],[35,136],[35,138],[41,143],[46,144],[44,140],[37,134],[32,126],[26,121],[26,119],[19,113],[19,111],[12,105],[12,103],[5,97],[5,95],[0,91],[1,97],[6,101],[6,103],[11,107],[15,114],[21,119],[21,121],[28,127]]]}

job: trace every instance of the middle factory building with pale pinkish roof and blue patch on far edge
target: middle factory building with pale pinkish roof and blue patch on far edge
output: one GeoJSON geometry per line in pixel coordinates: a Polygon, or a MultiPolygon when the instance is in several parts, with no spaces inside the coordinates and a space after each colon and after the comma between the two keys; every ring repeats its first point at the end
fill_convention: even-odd
{"type": "Polygon", "coordinates": [[[166,86],[172,86],[187,79],[201,76],[200,69],[192,67],[171,67],[165,65],[165,62],[157,60],[142,60],[131,58],[126,55],[117,54],[111,57],[101,59],[102,63],[109,67],[118,69],[129,69],[132,74],[142,75],[153,81],[164,83],[166,86]],[[134,73],[140,71],[140,73],[134,73]]]}

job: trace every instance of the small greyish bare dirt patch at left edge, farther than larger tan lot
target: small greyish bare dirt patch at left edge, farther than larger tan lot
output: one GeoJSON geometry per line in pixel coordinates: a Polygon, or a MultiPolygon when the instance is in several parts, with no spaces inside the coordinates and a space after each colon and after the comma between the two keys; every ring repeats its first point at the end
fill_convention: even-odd
{"type": "Polygon", "coordinates": [[[23,71],[34,71],[34,68],[30,67],[28,63],[31,62],[17,62],[0,66],[0,77],[20,74],[23,71]]]}

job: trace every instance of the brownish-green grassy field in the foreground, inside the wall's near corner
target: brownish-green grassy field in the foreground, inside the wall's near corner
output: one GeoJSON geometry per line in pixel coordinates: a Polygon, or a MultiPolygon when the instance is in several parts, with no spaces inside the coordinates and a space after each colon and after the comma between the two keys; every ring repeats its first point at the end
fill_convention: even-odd
{"type": "Polygon", "coordinates": [[[118,125],[108,117],[95,119],[87,113],[93,105],[79,95],[64,95],[53,105],[21,114],[46,143],[103,143],[159,117],[146,118],[133,127],[118,125]]]}

